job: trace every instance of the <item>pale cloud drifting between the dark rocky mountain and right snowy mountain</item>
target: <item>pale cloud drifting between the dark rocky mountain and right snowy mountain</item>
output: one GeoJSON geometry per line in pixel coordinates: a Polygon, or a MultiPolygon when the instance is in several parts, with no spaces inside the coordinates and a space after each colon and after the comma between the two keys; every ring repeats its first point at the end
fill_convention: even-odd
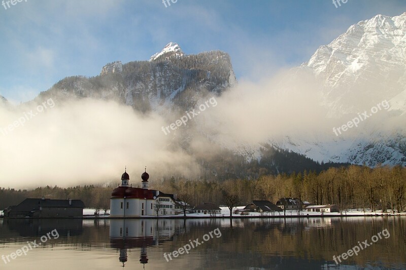
{"type": "Polygon", "coordinates": [[[243,81],[218,98],[206,112],[212,134],[248,142],[309,131],[325,131],[326,109],[320,106],[319,86],[310,73],[281,71],[259,83],[243,81]]]}

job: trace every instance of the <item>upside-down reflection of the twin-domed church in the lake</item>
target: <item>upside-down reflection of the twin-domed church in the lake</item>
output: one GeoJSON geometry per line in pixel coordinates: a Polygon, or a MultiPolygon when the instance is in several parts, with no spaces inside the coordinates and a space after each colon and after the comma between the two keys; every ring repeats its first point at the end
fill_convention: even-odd
{"type": "Polygon", "coordinates": [[[158,246],[175,234],[174,219],[112,219],[110,220],[111,247],[120,252],[123,267],[128,260],[128,250],[140,248],[140,263],[148,263],[147,248],[158,246]]]}

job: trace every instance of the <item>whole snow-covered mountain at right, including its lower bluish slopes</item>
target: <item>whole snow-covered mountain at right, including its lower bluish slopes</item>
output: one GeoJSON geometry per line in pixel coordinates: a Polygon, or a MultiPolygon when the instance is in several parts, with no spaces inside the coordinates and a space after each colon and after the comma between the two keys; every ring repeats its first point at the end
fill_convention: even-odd
{"type": "Polygon", "coordinates": [[[312,72],[320,82],[327,118],[346,123],[385,100],[390,108],[380,114],[380,121],[353,129],[352,137],[331,133],[332,138],[323,142],[300,137],[270,142],[319,162],[406,166],[406,132],[401,124],[406,113],[406,13],[377,15],[352,25],[298,69],[312,72]]]}

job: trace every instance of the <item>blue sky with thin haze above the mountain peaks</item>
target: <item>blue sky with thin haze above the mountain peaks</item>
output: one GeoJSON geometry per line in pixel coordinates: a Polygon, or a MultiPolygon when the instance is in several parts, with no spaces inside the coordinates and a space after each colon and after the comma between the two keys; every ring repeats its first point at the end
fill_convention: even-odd
{"type": "Polygon", "coordinates": [[[238,79],[300,65],[361,20],[406,11],[403,0],[22,0],[0,6],[0,95],[27,101],[70,75],[148,60],[167,43],[222,50],[238,79]],[[7,6],[6,6],[7,7],[7,6]]]}

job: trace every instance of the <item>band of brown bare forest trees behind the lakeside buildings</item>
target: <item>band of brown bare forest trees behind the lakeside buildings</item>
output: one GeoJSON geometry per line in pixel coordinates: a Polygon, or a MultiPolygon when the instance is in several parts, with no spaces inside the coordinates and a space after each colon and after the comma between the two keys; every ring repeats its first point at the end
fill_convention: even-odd
{"type": "MultiPolygon", "coordinates": [[[[69,188],[58,186],[37,187],[32,190],[0,188],[0,209],[17,205],[25,198],[79,199],[87,208],[109,209],[110,196],[116,186],[84,185],[69,188]]],[[[140,187],[134,185],[134,187],[140,187]]],[[[213,202],[225,205],[228,196],[238,198],[244,206],[253,200],[269,200],[276,203],[280,198],[299,198],[317,205],[335,204],[342,211],[362,209],[384,212],[406,211],[406,168],[395,166],[342,166],[329,168],[320,173],[282,173],[262,175],[256,179],[195,180],[171,177],[151,181],[150,189],[158,189],[187,203],[197,205],[213,202]]]]}

